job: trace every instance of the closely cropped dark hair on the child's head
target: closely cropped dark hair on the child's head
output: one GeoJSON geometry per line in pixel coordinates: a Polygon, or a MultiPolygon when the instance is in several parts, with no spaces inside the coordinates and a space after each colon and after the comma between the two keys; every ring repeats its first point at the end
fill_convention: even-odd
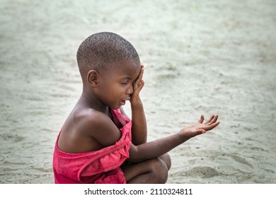
{"type": "Polygon", "coordinates": [[[131,59],[140,64],[139,55],[130,42],[115,33],[96,33],[84,40],[76,53],[81,76],[91,69],[104,71],[113,62],[131,59]]]}

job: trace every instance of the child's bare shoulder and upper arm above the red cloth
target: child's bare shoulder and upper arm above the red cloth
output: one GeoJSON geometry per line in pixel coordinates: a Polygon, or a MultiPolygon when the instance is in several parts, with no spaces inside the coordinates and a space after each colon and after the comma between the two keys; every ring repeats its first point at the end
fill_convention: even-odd
{"type": "Polygon", "coordinates": [[[75,109],[62,127],[58,146],[71,153],[95,151],[115,144],[120,137],[120,130],[108,115],[93,109],[75,109]]]}

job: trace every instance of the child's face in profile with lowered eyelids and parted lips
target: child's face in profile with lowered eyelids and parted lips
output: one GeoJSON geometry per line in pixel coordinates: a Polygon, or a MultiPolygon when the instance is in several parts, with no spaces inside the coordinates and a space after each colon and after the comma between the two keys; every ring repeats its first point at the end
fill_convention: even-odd
{"type": "Polygon", "coordinates": [[[119,109],[130,100],[133,82],[139,76],[141,66],[133,61],[116,63],[112,69],[100,74],[98,98],[111,109],[119,109]]]}

